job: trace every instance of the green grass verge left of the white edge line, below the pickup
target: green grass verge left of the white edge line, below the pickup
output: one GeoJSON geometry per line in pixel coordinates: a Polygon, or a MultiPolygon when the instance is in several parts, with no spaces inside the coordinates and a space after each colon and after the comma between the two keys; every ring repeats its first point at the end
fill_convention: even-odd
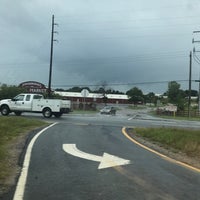
{"type": "Polygon", "coordinates": [[[10,172],[9,145],[29,131],[45,125],[45,122],[23,117],[0,117],[0,182],[10,172]]]}

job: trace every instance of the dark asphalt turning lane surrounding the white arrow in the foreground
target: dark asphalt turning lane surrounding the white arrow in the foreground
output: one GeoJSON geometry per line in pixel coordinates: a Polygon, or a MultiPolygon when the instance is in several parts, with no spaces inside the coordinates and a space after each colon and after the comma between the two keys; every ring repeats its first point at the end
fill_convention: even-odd
{"type": "MultiPolygon", "coordinates": [[[[121,132],[123,120],[108,116],[102,117],[104,122],[94,119],[63,118],[38,137],[24,200],[200,199],[199,173],[129,141],[121,132]],[[66,153],[63,144],[76,144],[81,152],[97,156],[106,152],[131,163],[98,169],[98,162],[66,153]]],[[[128,119],[127,124],[131,121],[128,119]]]]}

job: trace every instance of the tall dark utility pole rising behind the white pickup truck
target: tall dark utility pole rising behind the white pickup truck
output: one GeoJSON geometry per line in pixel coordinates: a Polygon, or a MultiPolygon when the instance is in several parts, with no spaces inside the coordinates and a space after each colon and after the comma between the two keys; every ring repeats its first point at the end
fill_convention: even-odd
{"type": "Polygon", "coordinates": [[[48,84],[48,97],[51,97],[51,79],[52,79],[52,62],[53,62],[53,42],[57,41],[54,40],[54,33],[58,33],[54,31],[54,26],[58,25],[54,23],[54,15],[52,15],[52,30],[51,30],[51,52],[50,52],[50,66],[49,66],[49,84],[48,84]]]}

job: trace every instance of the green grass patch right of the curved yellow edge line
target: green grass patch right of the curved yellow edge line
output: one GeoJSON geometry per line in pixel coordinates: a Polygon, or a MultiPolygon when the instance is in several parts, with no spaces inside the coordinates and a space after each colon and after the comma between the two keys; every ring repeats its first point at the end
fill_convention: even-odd
{"type": "Polygon", "coordinates": [[[177,128],[136,128],[135,132],[165,147],[186,153],[189,156],[200,155],[200,130],[177,128]]]}

